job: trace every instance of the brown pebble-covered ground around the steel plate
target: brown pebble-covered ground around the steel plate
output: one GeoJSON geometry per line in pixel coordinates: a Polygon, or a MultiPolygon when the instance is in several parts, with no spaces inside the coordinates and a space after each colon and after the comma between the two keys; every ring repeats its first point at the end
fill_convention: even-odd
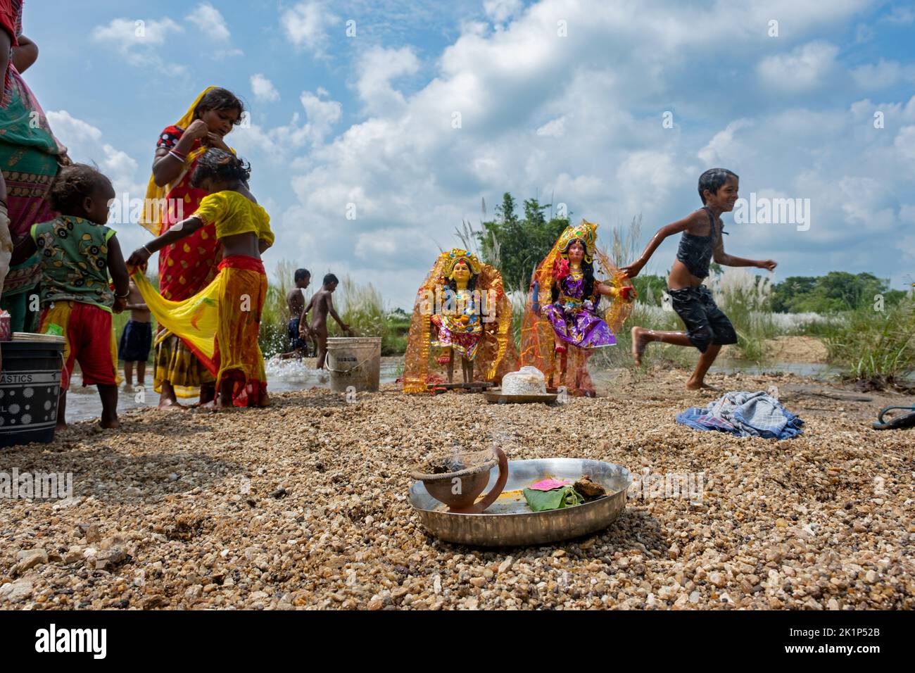
{"type": "Polygon", "coordinates": [[[714,396],[684,391],[685,376],[623,372],[608,396],[561,406],[385,385],[352,402],[309,391],[267,410],[132,411],[119,431],[76,424],[0,450],[0,472],[72,472],[74,492],[3,503],[0,608],[915,608],[915,430],[869,429],[884,399],[717,374],[731,390],[778,385],[805,432],[696,432],[674,414],[714,396]],[[641,489],[606,530],[541,547],[428,535],[411,468],[493,443],[510,459],[701,472],[705,491],[641,489]]]}

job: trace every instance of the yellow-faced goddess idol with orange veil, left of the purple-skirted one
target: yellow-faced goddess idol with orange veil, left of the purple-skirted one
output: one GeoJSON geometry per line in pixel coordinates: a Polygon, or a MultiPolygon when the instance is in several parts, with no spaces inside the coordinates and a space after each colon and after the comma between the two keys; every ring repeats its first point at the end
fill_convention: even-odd
{"type": "Polygon", "coordinates": [[[454,248],[438,256],[416,295],[404,359],[404,393],[425,392],[443,381],[429,371],[444,369],[454,380],[460,357],[464,383],[475,376],[501,380],[516,368],[518,355],[511,337],[511,304],[501,274],[481,264],[476,255],[454,248]],[[430,361],[435,358],[435,363],[430,361]]]}

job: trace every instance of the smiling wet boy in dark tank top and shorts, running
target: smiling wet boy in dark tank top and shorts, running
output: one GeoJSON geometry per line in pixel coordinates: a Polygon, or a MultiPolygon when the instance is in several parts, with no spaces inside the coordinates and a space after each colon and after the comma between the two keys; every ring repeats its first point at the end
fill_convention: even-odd
{"type": "Polygon", "coordinates": [[[723,266],[756,266],[769,271],[776,266],[771,259],[744,259],[725,252],[721,235],[724,233],[721,213],[734,210],[738,180],[737,175],[726,168],[706,170],[699,178],[699,197],[703,207],[683,220],[659,229],[651,237],[640,258],[622,268],[627,277],[638,276],[665,238],[674,233],[683,233],[667,285],[673,310],[684,321],[686,331],[654,331],[633,327],[632,355],[635,363],[641,364],[641,356],[649,342],[695,346],[702,356],[695,365],[693,375],[686,382],[689,390],[710,388],[710,385],[705,384],[705,373],[715,362],[723,345],[737,343],[734,326],[716,306],[712,293],[703,284],[705,277],[708,277],[709,262],[714,259],[723,266]]]}

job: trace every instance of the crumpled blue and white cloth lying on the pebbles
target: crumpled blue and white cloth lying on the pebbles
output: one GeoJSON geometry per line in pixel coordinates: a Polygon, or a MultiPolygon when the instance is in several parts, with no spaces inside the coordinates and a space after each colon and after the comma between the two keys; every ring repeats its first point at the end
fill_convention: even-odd
{"type": "Polygon", "coordinates": [[[705,408],[691,407],[677,414],[677,422],[697,430],[719,430],[766,440],[790,440],[802,433],[803,426],[801,417],[761,390],[726,393],[705,408]]]}

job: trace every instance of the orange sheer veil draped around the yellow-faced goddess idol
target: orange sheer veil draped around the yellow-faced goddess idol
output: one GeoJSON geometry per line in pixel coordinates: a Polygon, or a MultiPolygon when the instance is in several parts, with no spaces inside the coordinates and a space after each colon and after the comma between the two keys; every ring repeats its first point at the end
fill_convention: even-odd
{"type": "MultiPolygon", "coordinates": [[[[404,355],[404,393],[424,393],[426,385],[442,380],[446,375],[445,367],[432,357],[434,353],[431,353],[430,342],[436,290],[440,291],[448,262],[447,256],[439,256],[416,292],[404,355]]],[[[496,316],[495,320],[483,323],[479,350],[474,360],[474,378],[499,384],[503,375],[518,368],[518,351],[511,335],[511,303],[505,296],[501,273],[490,265],[481,265],[476,289],[481,295],[494,290],[496,316]]],[[[490,310],[490,307],[487,309],[490,310]]],[[[453,356],[459,357],[457,354],[453,356]]],[[[456,368],[459,372],[460,368],[456,368]]]]}

